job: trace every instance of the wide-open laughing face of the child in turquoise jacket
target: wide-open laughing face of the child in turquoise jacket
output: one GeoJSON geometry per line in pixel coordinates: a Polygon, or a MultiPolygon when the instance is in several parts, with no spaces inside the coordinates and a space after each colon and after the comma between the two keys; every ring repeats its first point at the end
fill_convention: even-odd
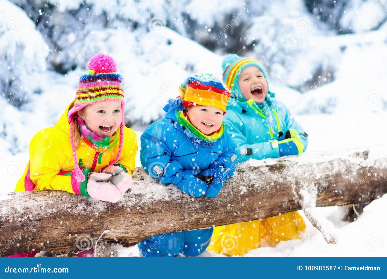
{"type": "Polygon", "coordinates": [[[246,100],[262,103],[267,95],[267,82],[259,68],[249,66],[243,69],[238,79],[239,88],[246,100]]]}

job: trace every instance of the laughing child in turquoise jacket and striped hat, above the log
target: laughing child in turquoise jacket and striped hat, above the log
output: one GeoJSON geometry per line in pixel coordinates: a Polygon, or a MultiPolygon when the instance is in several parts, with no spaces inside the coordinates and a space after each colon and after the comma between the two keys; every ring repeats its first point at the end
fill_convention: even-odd
{"type": "Polygon", "coordinates": [[[222,67],[224,83],[232,92],[224,123],[237,145],[237,162],[304,152],[308,134],[269,90],[261,64],[229,54],[222,67]]]}

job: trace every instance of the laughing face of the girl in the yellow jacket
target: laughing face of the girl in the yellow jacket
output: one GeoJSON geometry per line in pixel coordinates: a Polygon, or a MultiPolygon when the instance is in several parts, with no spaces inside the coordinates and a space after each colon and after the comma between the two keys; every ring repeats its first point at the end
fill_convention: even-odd
{"type": "Polygon", "coordinates": [[[88,105],[78,112],[87,128],[102,137],[111,137],[120,127],[122,111],[120,101],[103,101],[88,105]]]}

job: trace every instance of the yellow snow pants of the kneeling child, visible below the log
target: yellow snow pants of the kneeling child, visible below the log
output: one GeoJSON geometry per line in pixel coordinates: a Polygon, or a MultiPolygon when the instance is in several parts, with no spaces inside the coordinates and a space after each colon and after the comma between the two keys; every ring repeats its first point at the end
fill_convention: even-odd
{"type": "Polygon", "coordinates": [[[228,256],[243,256],[248,251],[260,247],[261,239],[277,245],[281,240],[299,238],[305,232],[303,217],[297,212],[260,220],[253,220],[214,228],[207,250],[228,256]]]}

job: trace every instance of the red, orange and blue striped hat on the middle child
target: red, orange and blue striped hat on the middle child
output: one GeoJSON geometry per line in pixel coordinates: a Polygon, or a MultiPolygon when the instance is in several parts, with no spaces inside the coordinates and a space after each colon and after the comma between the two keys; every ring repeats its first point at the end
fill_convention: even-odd
{"type": "Polygon", "coordinates": [[[231,96],[231,92],[213,74],[191,74],[179,86],[179,92],[183,107],[209,106],[224,113],[231,96]]]}

